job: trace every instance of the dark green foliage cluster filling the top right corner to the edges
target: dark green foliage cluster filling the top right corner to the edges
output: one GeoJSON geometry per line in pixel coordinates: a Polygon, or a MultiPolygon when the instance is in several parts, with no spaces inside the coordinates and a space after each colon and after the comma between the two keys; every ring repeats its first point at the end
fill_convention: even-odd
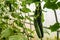
{"type": "Polygon", "coordinates": [[[58,0],[44,0],[45,4],[43,8],[48,8],[48,9],[58,9],[60,8],[60,2],[58,2],[58,0]]]}

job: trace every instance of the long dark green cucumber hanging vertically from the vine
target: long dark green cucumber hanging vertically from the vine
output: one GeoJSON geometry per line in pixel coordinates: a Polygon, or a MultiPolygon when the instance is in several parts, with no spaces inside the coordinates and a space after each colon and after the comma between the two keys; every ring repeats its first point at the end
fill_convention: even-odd
{"type": "Polygon", "coordinates": [[[36,33],[39,38],[43,38],[43,27],[42,27],[42,10],[41,4],[36,7],[35,14],[34,14],[34,26],[36,33]]]}

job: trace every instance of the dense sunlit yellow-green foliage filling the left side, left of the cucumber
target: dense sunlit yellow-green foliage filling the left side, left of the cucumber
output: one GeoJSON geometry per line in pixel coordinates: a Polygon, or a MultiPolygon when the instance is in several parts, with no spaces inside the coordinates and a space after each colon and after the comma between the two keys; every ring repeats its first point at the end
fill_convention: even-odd
{"type": "MultiPolygon", "coordinates": [[[[25,29],[26,32],[21,31],[24,30],[25,27],[22,22],[25,18],[22,14],[31,12],[31,10],[26,8],[27,3],[21,4],[20,2],[23,1],[0,0],[0,40],[27,40],[26,32],[33,34],[32,30],[28,28],[25,29]],[[22,8],[20,8],[19,5],[22,6],[22,8]]],[[[31,21],[29,17],[27,17],[27,19],[31,21]]],[[[31,38],[32,36],[33,35],[28,35],[28,37],[31,38]]]]}

